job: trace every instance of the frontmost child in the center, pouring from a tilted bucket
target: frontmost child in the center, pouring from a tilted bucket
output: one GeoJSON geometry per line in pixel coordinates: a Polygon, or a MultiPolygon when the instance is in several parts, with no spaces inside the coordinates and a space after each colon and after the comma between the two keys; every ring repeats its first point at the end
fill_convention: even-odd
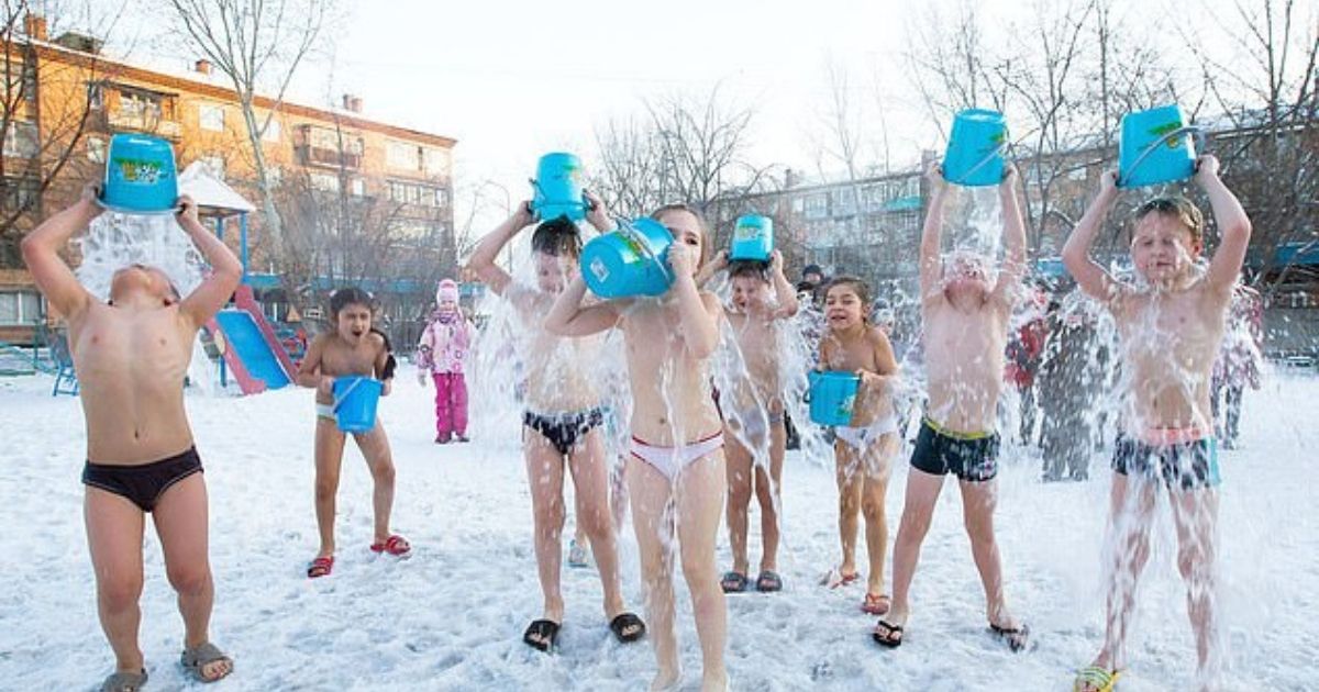
{"type": "MultiPolygon", "coordinates": [[[[650,638],[660,663],[652,689],[681,681],[673,602],[675,544],[700,638],[702,689],[727,689],[728,612],[715,563],[727,481],[723,422],[711,397],[708,372],[710,357],[719,347],[723,307],[712,293],[696,287],[695,274],[703,264],[708,236],[695,210],[685,204],[661,207],[650,219],[632,224],[637,225],[648,227],[648,237],[632,236],[628,245],[649,245],[649,239],[661,235],[667,240],[666,246],[644,249],[652,269],[667,277],[667,286],[661,283],[662,290],[656,293],[658,299],[621,298],[583,304],[587,285],[579,275],[554,303],[545,327],[565,336],[621,328],[633,399],[628,494],[646,587],[650,638]]],[[[613,233],[592,243],[608,241],[609,236],[613,233]]],[[[582,262],[583,274],[590,273],[595,279],[613,273],[603,260],[596,265],[583,254],[582,262]]],[[[654,290],[648,282],[641,289],[654,290]]]]}

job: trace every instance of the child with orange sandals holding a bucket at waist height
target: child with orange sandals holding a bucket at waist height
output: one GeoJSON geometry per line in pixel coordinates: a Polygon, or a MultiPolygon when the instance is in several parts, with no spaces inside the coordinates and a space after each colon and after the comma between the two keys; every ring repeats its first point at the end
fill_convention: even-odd
{"type": "MultiPolygon", "coordinates": [[[[856,394],[845,424],[834,427],[834,459],[838,467],[838,531],[843,562],[826,577],[828,587],[856,581],[857,514],[865,517],[865,550],[869,558],[861,610],[882,616],[889,610],[884,591],[884,558],[889,542],[884,507],[893,457],[902,444],[893,393],[898,362],[893,344],[871,323],[871,291],[856,277],[838,277],[824,290],[826,331],[820,339],[819,366],[832,373],[855,373],[856,394]]],[[[819,397],[814,394],[813,397],[819,397]]],[[[820,403],[813,399],[813,403],[820,403]]],[[[844,405],[845,407],[845,405],[844,405]]],[[[823,422],[823,420],[822,420],[823,422]]]]}

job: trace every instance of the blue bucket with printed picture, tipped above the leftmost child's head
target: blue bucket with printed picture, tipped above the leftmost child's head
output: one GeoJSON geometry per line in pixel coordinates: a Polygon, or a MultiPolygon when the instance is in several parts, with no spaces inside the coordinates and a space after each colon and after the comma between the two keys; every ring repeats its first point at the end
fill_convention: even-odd
{"type": "Polygon", "coordinates": [[[103,207],[124,214],[170,214],[177,203],[178,171],[169,142],[146,134],[109,138],[103,207]]]}

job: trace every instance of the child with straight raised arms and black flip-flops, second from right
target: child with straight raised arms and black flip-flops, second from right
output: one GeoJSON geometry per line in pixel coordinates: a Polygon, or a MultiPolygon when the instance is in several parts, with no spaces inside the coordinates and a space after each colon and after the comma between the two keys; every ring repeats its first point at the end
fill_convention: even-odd
{"type": "Polygon", "coordinates": [[[1017,203],[1017,171],[1005,165],[998,183],[1002,204],[1004,261],[991,281],[989,260],[958,252],[942,256],[943,204],[948,186],[943,166],[931,166],[930,208],[921,233],[921,318],[925,327],[927,402],[911,452],[902,523],[893,542],[893,606],[874,627],[881,646],[902,643],[910,614],[907,594],[930,530],[943,477],[962,489],[963,523],[984,587],[989,630],[1013,651],[1025,649],[1029,630],[1008,612],[1002,563],[995,539],[998,434],[995,431],[1002,389],[1004,353],[1012,303],[1026,264],[1026,231],[1017,203]]]}

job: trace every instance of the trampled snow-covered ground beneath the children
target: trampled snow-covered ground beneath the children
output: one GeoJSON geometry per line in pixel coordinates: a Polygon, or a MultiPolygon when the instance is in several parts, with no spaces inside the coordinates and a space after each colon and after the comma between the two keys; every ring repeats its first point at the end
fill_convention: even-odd
{"type": "MultiPolygon", "coordinates": [[[[83,423],[75,399],[45,377],[0,380],[0,689],[91,689],[112,658],[96,623],[82,526],[83,423]]],[[[311,393],[191,395],[211,493],[218,600],[212,635],[236,659],[216,689],[638,689],[654,674],[649,645],[623,647],[600,612],[591,569],[565,571],[567,618],[557,655],[521,643],[539,616],[530,500],[518,419],[487,417],[468,446],[431,443],[430,390],[400,378],[383,415],[398,467],[394,526],[408,562],[377,559],[369,476],[350,446],[332,576],[305,577],[313,556],[311,393]]],[[[1315,689],[1319,651],[1319,378],[1272,377],[1249,393],[1240,451],[1223,451],[1221,606],[1229,689],[1315,689]]],[[[826,591],[838,560],[832,461],[791,455],[785,469],[786,592],[729,597],[736,689],[1070,689],[1101,637],[1099,552],[1107,459],[1084,484],[1042,485],[1038,460],[1008,448],[998,527],[1016,613],[1038,647],[1009,654],[985,633],[960,500],[946,488],[926,543],[906,643],[880,650],[863,587],[826,591]]],[[[901,514],[905,463],[889,490],[901,514]]],[[[1173,563],[1166,506],[1144,583],[1124,692],[1186,689],[1194,645],[1173,563]]],[[[751,522],[753,531],[758,521],[751,522]]],[[[892,540],[892,538],[890,538],[892,540]]],[[[630,522],[627,593],[641,606],[630,522]]],[[[758,559],[752,539],[752,560],[758,559]]],[[[727,567],[727,535],[721,536],[727,567]]],[[[145,539],[141,646],[149,689],[187,688],[182,623],[161,551],[145,539]]],[[[864,562],[863,562],[864,564],[864,562]]],[[[699,679],[690,602],[679,580],[687,684],[699,679]]]]}

